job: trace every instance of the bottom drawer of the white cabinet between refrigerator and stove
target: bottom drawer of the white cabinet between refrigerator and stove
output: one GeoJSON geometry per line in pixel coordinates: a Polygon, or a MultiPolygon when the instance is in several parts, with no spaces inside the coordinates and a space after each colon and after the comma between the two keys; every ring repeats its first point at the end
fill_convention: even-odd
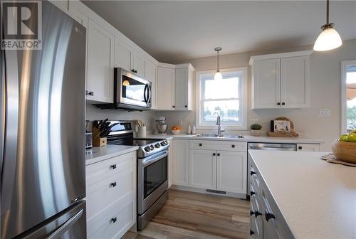
{"type": "Polygon", "coordinates": [[[87,223],[88,238],[121,238],[135,223],[135,198],[127,194],[87,223]]]}

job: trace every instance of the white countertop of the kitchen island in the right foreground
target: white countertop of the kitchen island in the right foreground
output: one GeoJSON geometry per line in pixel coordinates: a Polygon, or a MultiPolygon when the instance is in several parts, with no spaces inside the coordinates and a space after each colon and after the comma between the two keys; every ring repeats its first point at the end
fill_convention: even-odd
{"type": "Polygon", "coordinates": [[[356,167],[323,152],[250,154],[295,238],[356,238],[356,167]]]}

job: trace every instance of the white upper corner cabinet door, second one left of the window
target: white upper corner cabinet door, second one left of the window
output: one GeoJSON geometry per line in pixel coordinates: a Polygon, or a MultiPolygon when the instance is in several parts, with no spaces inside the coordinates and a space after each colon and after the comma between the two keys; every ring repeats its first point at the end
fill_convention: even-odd
{"type": "Polygon", "coordinates": [[[157,110],[174,109],[174,69],[157,68],[157,110]]]}

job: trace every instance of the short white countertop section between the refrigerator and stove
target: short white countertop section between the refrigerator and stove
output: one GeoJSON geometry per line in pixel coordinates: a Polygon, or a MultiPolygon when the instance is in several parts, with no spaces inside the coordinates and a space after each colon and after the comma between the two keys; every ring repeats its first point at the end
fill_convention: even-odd
{"type": "Polygon", "coordinates": [[[86,150],[85,165],[94,164],[98,161],[110,159],[114,156],[127,154],[138,149],[137,146],[124,146],[124,145],[106,145],[103,147],[93,147],[86,150]]]}

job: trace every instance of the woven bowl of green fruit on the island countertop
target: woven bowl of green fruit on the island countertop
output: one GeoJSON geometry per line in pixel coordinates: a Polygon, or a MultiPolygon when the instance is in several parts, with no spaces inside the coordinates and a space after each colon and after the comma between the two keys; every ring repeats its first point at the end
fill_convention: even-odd
{"type": "Polygon", "coordinates": [[[333,143],[332,149],[336,159],[356,164],[356,130],[349,134],[342,134],[333,143]]]}

